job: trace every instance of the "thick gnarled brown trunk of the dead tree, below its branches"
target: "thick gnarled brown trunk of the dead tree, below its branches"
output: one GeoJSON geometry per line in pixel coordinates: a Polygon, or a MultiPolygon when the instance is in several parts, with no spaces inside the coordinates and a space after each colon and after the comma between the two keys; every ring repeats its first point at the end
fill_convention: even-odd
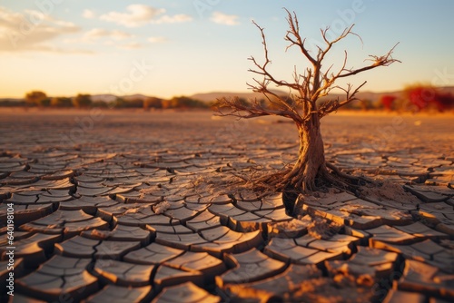
{"type": "Polygon", "coordinates": [[[327,175],[319,115],[312,113],[311,119],[302,124],[297,122],[296,125],[300,135],[298,161],[283,177],[283,181],[294,190],[316,191],[316,179],[327,175]]]}

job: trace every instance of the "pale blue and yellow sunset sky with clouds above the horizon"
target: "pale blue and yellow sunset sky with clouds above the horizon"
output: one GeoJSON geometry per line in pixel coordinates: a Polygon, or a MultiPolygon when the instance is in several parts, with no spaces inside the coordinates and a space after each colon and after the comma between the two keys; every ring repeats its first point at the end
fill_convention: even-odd
{"type": "MultiPolygon", "coordinates": [[[[401,61],[360,73],[362,91],[392,92],[411,83],[454,85],[454,1],[451,0],[0,0],[0,97],[77,93],[143,93],[162,98],[246,92],[248,57],[263,60],[265,31],[271,72],[291,80],[308,66],[286,52],[283,7],[298,15],[310,50],[355,24],[324,66],[349,67],[370,54],[401,61]]],[[[345,84],[345,83],[340,83],[345,84]]]]}

